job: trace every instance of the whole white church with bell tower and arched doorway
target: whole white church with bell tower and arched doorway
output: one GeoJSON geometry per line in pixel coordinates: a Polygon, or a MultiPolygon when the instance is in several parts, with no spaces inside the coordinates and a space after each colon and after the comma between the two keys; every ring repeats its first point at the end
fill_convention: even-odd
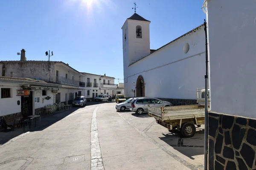
{"type": "Polygon", "coordinates": [[[196,88],[205,81],[204,24],[152,50],[150,23],[135,12],[122,26],[124,95],[196,104],[196,88]]]}

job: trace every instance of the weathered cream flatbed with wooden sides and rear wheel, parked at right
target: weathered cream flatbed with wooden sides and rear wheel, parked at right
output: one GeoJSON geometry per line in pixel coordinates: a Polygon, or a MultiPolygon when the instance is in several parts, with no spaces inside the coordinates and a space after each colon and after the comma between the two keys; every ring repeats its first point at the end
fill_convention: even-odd
{"type": "Polygon", "coordinates": [[[177,129],[183,137],[195,135],[196,127],[204,124],[204,105],[182,105],[154,108],[148,105],[148,116],[170,130],[177,129]]]}

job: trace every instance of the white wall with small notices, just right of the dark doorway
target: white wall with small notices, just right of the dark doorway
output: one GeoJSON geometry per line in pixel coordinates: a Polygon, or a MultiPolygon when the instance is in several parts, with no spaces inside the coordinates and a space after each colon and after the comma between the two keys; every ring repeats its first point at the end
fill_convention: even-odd
{"type": "Polygon", "coordinates": [[[35,98],[33,99],[34,102],[35,102],[35,109],[37,108],[43,108],[45,105],[52,105],[53,104],[53,94],[52,94],[52,91],[47,91],[47,95],[46,96],[42,96],[42,91],[41,90],[38,90],[38,91],[33,91],[33,93],[35,93],[35,98],[40,98],[39,99],[39,102],[35,102],[35,98]],[[44,99],[45,97],[51,97],[51,99],[47,100],[47,99],[44,99]]]}

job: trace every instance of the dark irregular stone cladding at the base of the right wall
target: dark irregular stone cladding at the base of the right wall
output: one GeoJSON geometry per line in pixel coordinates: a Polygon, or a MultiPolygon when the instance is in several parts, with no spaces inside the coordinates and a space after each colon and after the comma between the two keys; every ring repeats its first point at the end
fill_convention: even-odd
{"type": "Polygon", "coordinates": [[[255,119],[209,112],[209,170],[254,170],[255,153],[255,119]]]}

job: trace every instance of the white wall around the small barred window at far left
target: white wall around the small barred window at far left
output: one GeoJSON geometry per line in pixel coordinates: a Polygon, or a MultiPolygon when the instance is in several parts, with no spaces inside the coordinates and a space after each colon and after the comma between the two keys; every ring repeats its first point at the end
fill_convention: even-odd
{"type": "Polygon", "coordinates": [[[0,90],[0,116],[18,113],[21,112],[21,97],[16,96],[17,90],[20,90],[20,86],[18,84],[7,84],[0,83],[0,88],[11,88],[11,98],[1,99],[1,90],[0,90]],[[20,101],[20,105],[17,105],[17,101],[20,101]]]}

